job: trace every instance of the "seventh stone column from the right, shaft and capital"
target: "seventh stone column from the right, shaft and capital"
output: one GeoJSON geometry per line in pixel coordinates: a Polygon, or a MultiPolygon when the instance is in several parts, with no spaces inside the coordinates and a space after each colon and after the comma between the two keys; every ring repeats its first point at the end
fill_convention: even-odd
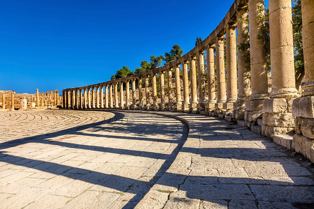
{"type": "Polygon", "coordinates": [[[215,69],[214,69],[214,44],[207,46],[207,88],[208,88],[208,102],[216,102],[215,98],[215,69]]]}

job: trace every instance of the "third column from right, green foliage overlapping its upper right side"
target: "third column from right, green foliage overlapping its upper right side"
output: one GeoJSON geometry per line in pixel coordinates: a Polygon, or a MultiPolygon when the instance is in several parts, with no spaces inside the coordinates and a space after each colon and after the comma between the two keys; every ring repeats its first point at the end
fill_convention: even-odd
{"type": "MultiPolygon", "coordinates": [[[[250,53],[251,53],[251,84],[250,100],[268,99],[266,50],[262,40],[257,36],[262,33],[259,17],[264,15],[264,0],[249,0],[250,53]]],[[[251,103],[247,103],[251,104],[251,103]]],[[[253,105],[255,106],[255,105],[253,105]]]]}

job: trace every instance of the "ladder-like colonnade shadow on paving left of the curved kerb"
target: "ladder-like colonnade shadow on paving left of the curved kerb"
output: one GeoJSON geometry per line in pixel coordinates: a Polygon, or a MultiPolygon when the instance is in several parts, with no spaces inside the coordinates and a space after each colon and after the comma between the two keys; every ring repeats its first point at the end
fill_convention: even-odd
{"type": "MultiPolygon", "coordinates": [[[[124,118],[124,114],[122,114],[122,113],[114,112],[114,114],[115,114],[114,117],[116,117],[116,118],[124,118]]],[[[108,188],[111,188],[114,190],[123,191],[123,192],[126,192],[127,190],[132,190],[132,187],[130,187],[130,186],[132,186],[134,183],[149,184],[150,186],[146,187],[146,189],[142,187],[142,188],[139,188],[140,191],[132,190],[132,193],[134,193],[135,196],[123,207],[123,208],[132,208],[134,201],[142,199],[143,196],[149,191],[150,187],[170,167],[171,163],[176,158],[177,153],[180,151],[182,145],[184,144],[185,140],[187,139],[187,135],[182,135],[179,139],[176,139],[176,140],[174,140],[174,139],[163,140],[163,139],[146,138],[145,135],[147,135],[147,134],[154,135],[154,132],[151,133],[151,131],[149,131],[149,133],[145,133],[146,132],[145,127],[141,127],[142,130],[138,131],[138,129],[136,129],[136,127],[138,127],[138,125],[129,125],[129,124],[126,125],[126,124],[124,124],[123,125],[124,127],[118,126],[116,128],[119,131],[121,131],[122,133],[133,133],[133,132],[135,132],[135,134],[137,134],[137,135],[143,134],[143,137],[125,137],[126,139],[148,140],[148,141],[155,141],[155,142],[166,142],[166,143],[177,144],[176,148],[171,152],[171,154],[163,154],[163,153],[156,153],[156,152],[149,152],[149,151],[132,151],[132,150],[127,150],[127,149],[110,148],[110,147],[102,147],[102,146],[80,145],[80,144],[51,140],[51,138],[59,137],[62,135],[87,135],[87,136],[98,136],[98,137],[109,138],[109,135],[95,135],[95,134],[89,135],[89,134],[82,133],[81,131],[89,129],[89,128],[93,128],[92,131],[104,130],[105,128],[102,127],[101,125],[102,124],[108,125],[111,123],[113,123],[113,124],[116,123],[116,120],[112,120],[112,118],[110,118],[110,119],[107,119],[105,121],[96,122],[96,123],[92,123],[92,124],[84,124],[84,125],[81,125],[78,127],[73,127],[73,128],[61,130],[58,132],[52,132],[49,134],[42,134],[42,135],[37,135],[37,136],[25,137],[25,138],[21,138],[21,139],[17,139],[17,140],[12,140],[9,142],[0,143],[0,146],[1,146],[1,149],[3,149],[6,147],[23,145],[25,143],[43,143],[43,144],[54,144],[54,145],[58,145],[58,146],[65,146],[65,147],[69,147],[69,148],[79,148],[79,149],[85,149],[85,150],[93,150],[93,151],[101,151],[101,152],[109,152],[109,153],[119,153],[119,154],[121,154],[123,152],[131,151],[131,152],[128,152],[127,154],[133,155],[133,156],[143,156],[143,157],[148,157],[148,158],[165,160],[164,163],[159,168],[159,170],[154,175],[154,177],[149,182],[139,181],[136,179],[121,177],[121,176],[113,175],[113,174],[108,175],[108,174],[99,173],[99,172],[95,172],[95,171],[87,170],[87,169],[82,169],[82,168],[74,168],[71,166],[60,165],[60,164],[53,163],[53,162],[46,162],[46,161],[41,161],[41,160],[32,160],[32,159],[28,159],[25,157],[17,157],[17,156],[5,154],[5,153],[3,153],[3,151],[0,151],[0,161],[15,164],[15,165],[22,165],[24,167],[34,168],[37,170],[41,170],[41,171],[48,172],[48,173],[53,173],[56,175],[66,176],[66,177],[72,178],[72,179],[79,179],[79,180],[82,180],[85,182],[93,183],[93,184],[100,185],[100,186],[105,186],[105,187],[108,187],[108,188]],[[24,162],[24,163],[22,164],[21,162],[24,162]],[[86,174],[82,177],[78,177],[77,175],[75,175],[75,173],[74,174],[71,173],[71,171],[70,171],[71,169],[75,169],[75,173],[86,173],[86,174]],[[93,173],[92,176],[93,177],[96,176],[96,177],[94,177],[94,178],[85,177],[88,173],[91,173],[91,172],[93,173]],[[123,184],[121,182],[123,182],[123,184]]],[[[116,125],[116,124],[114,124],[114,125],[116,125]]],[[[185,125],[185,124],[183,124],[183,125],[185,125]]],[[[157,124],[157,126],[158,126],[158,124],[157,124]]],[[[106,129],[108,129],[108,128],[106,127],[106,129]]],[[[111,129],[111,131],[112,131],[112,129],[111,129]]],[[[156,130],[156,131],[158,131],[158,130],[156,130]]],[[[168,135],[173,136],[173,134],[171,135],[170,132],[171,132],[171,127],[170,127],[170,131],[169,131],[168,135]]],[[[158,133],[158,135],[159,134],[160,133],[158,133]]],[[[111,136],[111,137],[113,137],[113,136],[111,136]]],[[[122,137],[118,136],[116,138],[122,138],[122,137]]]]}

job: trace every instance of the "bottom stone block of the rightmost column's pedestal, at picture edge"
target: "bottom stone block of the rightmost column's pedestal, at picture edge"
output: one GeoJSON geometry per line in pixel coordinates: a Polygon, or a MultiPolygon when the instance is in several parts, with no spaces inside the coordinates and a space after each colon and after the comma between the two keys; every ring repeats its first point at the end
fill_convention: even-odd
{"type": "Polygon", "coordinates": [[[314,140],[300,134],[293,136],[295,151],[314,162],[314,140]]]}

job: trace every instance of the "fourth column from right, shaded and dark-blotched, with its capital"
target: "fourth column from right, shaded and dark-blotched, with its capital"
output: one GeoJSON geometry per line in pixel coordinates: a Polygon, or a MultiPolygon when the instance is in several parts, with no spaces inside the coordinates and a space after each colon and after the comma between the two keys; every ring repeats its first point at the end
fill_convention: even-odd
{"type": "Polygon", "coordinates": [[[243,21],[248,14],[247,7],[238,8],[237,23],[238,36],[238,88],[239,96],[237,102],[247,101],[251,95],[251,69],[250,69],[250,38],[249,25],[243,21]]]}

